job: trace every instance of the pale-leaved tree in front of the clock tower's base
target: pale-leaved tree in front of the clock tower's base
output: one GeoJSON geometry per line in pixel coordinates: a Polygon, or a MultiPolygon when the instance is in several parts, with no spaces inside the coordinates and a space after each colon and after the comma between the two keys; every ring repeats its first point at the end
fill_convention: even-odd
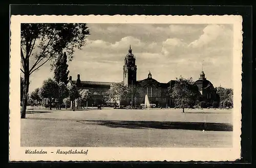
{"type": "Polygon", "coordinates": [[[115,101],[115,107],[116,107],[116,102],[119,99],[119,107],[120,107],[121,97],[129,93],[129,88],[125,86],[123,82],[113,83],[110,89],[106,93],[109,95],[110,99],[115,101]]]}

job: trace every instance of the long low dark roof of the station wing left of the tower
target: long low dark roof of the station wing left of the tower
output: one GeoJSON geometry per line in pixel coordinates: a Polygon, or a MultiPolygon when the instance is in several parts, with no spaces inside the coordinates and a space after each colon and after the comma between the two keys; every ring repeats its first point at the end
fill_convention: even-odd
{"type": "Polygon", "coordinates": [[[76,80],[72,80],[79,88],[110,88],[110,85],[115,82],[102,82],[102,81],[81,81],[80,84],[76,80]]]}

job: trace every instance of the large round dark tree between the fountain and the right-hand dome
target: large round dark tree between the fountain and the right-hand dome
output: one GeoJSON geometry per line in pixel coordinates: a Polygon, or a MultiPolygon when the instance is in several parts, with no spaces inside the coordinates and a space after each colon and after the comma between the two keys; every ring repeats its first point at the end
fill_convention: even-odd
{"type": "Polygon", "coordinates": [[[171,91],[171,96],[174,99],[175,105],[182,108],[194,106],[197,102],[198,88],[193,85],[192,78],[185,79],[182,76],[176,78],[176,83],[171,91]]]}

